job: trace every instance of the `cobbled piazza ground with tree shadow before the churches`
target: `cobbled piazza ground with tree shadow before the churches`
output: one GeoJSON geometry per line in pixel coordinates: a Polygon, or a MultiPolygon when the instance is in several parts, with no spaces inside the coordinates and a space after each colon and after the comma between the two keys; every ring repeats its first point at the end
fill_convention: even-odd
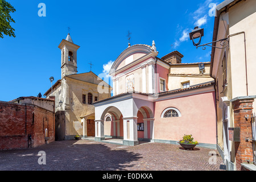
{"type": "Polygon", "coordinates": [[[216,150],[201,147],[183,150],[179,144],[121,146],[93,140],[65,140],[36,148],[0,151],[0,170],[220,171],[222,159],[211,155],[214,152],[217,154],[216,150]],[[46,164],[38,163],[42,159],[39,151],[45,152],[46,164]],[[211,157],[215,157],[216,164],[209,164],[211,157]]]}

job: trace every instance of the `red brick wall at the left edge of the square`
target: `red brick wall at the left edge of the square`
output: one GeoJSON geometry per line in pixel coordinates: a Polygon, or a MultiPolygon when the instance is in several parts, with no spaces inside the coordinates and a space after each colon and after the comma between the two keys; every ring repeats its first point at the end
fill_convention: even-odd
{"type": "Polygon", "coordinates": [[[0,150],[28,147],[29,134],[32,136],[32,147],[44,144],[46,127],[48,127],[49,142],[54,141],[54,117],[53,112],[35,105],[0,101],[0,150]]]}

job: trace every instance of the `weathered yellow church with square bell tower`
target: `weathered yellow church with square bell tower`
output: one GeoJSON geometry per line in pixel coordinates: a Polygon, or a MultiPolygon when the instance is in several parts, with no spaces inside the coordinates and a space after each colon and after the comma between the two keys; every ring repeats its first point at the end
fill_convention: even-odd
{"type": "Polygon", "coordinates": [[[93,72],[77,74],[77,49],[68,34],[59,44],[61,49],[61,79],[44,96],[55,96],[56,140],[94,136],[93,102],[110,97],[111,87],[93,72]],[[108,93],[100,94],[98,85],[108,93]]]}

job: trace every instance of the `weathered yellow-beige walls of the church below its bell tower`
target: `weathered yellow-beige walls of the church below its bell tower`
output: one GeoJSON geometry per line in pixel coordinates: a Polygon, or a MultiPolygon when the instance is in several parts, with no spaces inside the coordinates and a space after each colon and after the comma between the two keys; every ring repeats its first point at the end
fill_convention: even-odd
{"type": "MultiPolygon", "coordinates": [[[[94,106],[88,104],[88,93],[92,94],[93,102],[94,97],[102,100],[111,96],[110,87],[106,88],[107,93],[98,92],[100,82],[101,80],[97,80],[94,73],[82,73],[64,77],[61,83],[53,89],[53,96],[56,98],[56,111],[65,110],[65,135],[83,135],[81,117],[94,113],[94,106]],[[86,95],[86,104],[82,103],[82,94],[86,95]],[[59,106],[60,101],[63,102],[61,107],[59,106]]],[[[48,93],[47,97],[49,96],[51,93],[48,93]]],[[[94,117],[87,119],[94,119],[94,117]]]]}

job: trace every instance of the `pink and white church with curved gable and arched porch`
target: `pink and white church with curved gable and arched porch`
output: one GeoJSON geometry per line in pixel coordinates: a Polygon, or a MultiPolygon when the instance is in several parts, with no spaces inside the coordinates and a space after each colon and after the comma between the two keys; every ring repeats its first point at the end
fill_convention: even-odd
{"type": "Polygon", "coordinates": [[[129,45],[114,61],[113,96],[93,103],[95,140],[177,144],[184,134],[192,134],[199,146],[216,148],[210,62],[181,63],[178,51],[157,56],[153,41],[152,46],[129,45]]]}

